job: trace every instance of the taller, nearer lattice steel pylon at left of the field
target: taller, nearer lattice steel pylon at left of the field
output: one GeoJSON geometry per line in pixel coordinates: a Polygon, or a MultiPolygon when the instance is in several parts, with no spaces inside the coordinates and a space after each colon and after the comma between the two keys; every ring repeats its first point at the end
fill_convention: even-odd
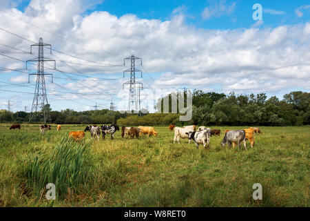
{"type": "MultiPolygon", "coordinates": [[[[43,121],[50,121],[50,108],[48,105],[48,95],[46,94],[45,87],[45,75],[52,75],[48,73],[44,73],[44,62],[45,61],[54,61],[54,69],[56,69],[56,61],[52,59],[44,58],[44,47],[50,47],[50,53],[52,53],[52,45],[43,43],[43,39],[40,38],[39,44],[32,44],[30,46],[30,54],[32,54],[32,46],[38,46],[38,57],[34,59],[30,59],[26,61],[26,69],[28,62],[37,61],[37,73],[32,73],[30,75],[37,75],[36,88],[34,89],[34,97],[31,106],[31,112],[29,117],[29,122],[31,120],[40,121],[38,115],[38,107],[39,111],[43,112],[43,121]]],[[[28,82],[30,82],[30,75],[28,76],[28,82]]]]}

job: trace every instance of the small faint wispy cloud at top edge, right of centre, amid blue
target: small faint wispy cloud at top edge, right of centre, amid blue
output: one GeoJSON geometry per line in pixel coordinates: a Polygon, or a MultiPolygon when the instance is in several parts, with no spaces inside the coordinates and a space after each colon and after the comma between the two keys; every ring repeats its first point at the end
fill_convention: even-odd
{"type": "Polygon", "coordinates": [[[211,1],[210,6],[206,7],[201,13],[203,19],[210,19],[211,17],[221,17],[222,15],[230,15],[234,12],[236,2],[227,5],[225,0],[211,1]]]}

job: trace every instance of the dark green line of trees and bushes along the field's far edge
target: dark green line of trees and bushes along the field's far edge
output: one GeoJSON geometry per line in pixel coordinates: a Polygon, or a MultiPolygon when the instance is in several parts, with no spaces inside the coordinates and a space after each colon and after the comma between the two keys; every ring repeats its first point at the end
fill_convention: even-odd
{"type": "MultiPolygon", "coordinates": [[[[198,125],[262,125],[262,126],[293,126],[310,124],[310,93],[293,91],[283,96],[269,97],[265,93],[254,95],[235,95],[229,93],[206,93],[194,90],[192,94],[192,119],[189,122],[179,122],[180,110],[172,113],[172,99],[180,93],[167,95],[169,113],[163,112],[163,99],[156,104],[158,113],[134,114],[110,111],[63,111],[50,110],[50,123],[54,124],[118,124],[125,126],[138,125],[168,125],[178,126],[188,124],[198,125]]],[[[187,93],[185,106],[187,105],[187,93]]],[[[177,105],[178,106],[178,105],[177,105]]],[[[50,108],[46,106],[45,108],[50,108]]],[[[0,111],[0,122],[22,123],[29,121],[30,113],[19,111],[12,113],[0,111]]],[[[43,113],[39,112],[37,122],[43,121],[43,113]]]]}

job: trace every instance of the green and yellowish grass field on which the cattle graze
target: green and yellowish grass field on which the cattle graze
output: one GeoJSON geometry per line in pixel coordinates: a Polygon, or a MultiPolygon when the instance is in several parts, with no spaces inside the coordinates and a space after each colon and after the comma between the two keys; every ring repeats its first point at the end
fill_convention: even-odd
{"type": "Polygon", "coordinates": [[[82,143],[67,138],[82,125],[44,135],[38,125],[9,127],[0,124],[0,206],[309,206],[309,126],[260,127],[247,151],[220,146],[223,133],[209,149],[173,144],[167,126],[139,140],[87,132],[82,143]],[[56,200],[45,198],[49,182],[56,200]]]}

